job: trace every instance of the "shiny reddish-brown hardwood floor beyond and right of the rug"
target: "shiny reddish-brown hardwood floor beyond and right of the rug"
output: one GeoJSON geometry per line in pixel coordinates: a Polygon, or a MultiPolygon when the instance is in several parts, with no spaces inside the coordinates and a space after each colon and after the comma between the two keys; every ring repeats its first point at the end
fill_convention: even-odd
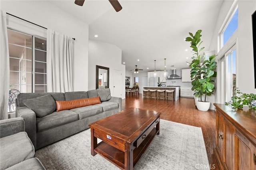
{"type": "Polygon", "coordinates": [[[218,170],[217,161],[213,155],[216,144],[215,111],[198,111],[194,105],[194,98],[180,97],[178,101],[163,101],[142,98],[142,94],[126,96],[126,99],[122,100],[122,110],[130,107],[160,111],[161,119],[201,127],[210,168],[218,170]]]}

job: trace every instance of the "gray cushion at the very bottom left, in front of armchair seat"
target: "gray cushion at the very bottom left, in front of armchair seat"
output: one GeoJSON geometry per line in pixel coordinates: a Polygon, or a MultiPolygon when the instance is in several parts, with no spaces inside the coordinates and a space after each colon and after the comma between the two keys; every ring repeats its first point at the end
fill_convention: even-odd
{"type": "Polygon", "coordinates": [[[45,168],[38,158],[31,158],[11,166],[6,170],[45,170],[45,168]]]}

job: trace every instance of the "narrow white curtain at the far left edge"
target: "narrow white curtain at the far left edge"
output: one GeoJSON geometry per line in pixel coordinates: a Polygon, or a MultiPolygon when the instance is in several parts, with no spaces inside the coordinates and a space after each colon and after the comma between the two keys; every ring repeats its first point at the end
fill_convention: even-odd
{"type": "Polygon", "coordinates": [[[8,98],[10,81],[8,35],[6,12],[1,10],[0,18],[0,120],[8,119],[8,98]]]}

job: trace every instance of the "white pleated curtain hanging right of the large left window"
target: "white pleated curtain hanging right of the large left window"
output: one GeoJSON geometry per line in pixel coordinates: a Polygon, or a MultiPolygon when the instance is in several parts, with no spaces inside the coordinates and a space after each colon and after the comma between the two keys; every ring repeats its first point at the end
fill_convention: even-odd
{"type": "Polygon", "coordinates": [[[47,30],[47,92],[73,91],[73,39],[47,30]]]}

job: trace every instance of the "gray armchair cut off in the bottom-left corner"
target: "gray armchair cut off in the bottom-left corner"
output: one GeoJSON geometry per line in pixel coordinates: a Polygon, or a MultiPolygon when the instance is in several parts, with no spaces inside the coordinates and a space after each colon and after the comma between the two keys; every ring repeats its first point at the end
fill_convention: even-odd
{"type": "Polygon", "coordinates": [[[33,158],[34,146],[24,130],[22,117],[0,121],[0,170],[45,170],[40,160],[33,158]]]}

